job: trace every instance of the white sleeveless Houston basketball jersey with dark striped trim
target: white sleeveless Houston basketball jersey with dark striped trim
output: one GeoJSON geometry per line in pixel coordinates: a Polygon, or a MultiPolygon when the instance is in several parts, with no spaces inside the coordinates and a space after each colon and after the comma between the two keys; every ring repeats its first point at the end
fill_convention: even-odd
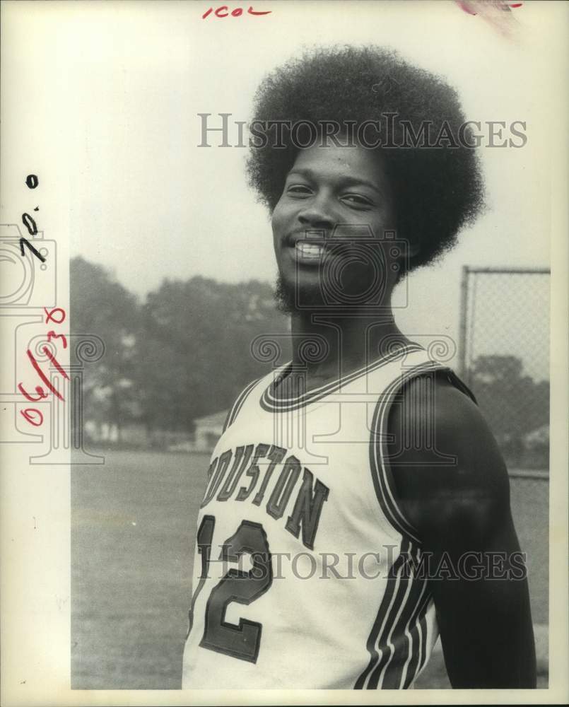
{"type": "Polygon", "coordinates": [[[291,369],[242,392],[213,450],[182,686],[408,688],[438,629],[387,414],[414,376],[457,379],[416,344],[283,399],[291,369]]]}

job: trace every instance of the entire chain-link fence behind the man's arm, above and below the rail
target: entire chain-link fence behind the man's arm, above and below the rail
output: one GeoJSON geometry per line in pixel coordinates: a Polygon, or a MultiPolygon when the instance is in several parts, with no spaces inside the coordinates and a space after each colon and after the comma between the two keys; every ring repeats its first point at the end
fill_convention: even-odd
{"type": "Polygon", "coordinates": [[[462,271],[459,373],[508,466],[537,624],[549,610],[549,286],[545,268],[462,271]]]}

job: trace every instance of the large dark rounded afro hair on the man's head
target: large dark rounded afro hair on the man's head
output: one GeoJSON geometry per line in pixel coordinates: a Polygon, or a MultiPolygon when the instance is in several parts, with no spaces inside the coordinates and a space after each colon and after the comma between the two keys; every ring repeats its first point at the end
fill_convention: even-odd
{"type": "MultiPolygon", "coordinates": [[[[483,207],[479,160],[472,146],[467,146],[471,132],[454,88],[390,49],[317,48],[306,50],[264,78],[254,96],[252,120],[360,125],[380,121],[386,114],[397,114],[395,144],[403,144],[404,122],[415,133],[427,121],[435,134],[445,123],[453,135],[462,126],[465,136],[454,145],[375,148],[392,188],[398,238],[418,245],[418,253],[406,263],[406,271],[412,271],[450,250],[459,230],[472,223],[483,207]],[[389,90],[382,89],[386,82],[389,90]]],[[[281,148],[270,139],[251,148],[249,184],[271,213],[298,149],[290,137],[281,148]]]]}

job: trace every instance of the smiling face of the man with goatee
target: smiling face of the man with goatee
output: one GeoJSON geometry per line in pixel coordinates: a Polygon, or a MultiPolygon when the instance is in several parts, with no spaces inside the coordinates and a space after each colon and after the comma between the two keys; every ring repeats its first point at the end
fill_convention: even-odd
{"type": "Polygon", "coordinates": [[[301,150],[272,226],[283,309],[389,301],[397,248],[384,231],[394,230],[395,219],[377,153],[360,146],[301,150]]]}

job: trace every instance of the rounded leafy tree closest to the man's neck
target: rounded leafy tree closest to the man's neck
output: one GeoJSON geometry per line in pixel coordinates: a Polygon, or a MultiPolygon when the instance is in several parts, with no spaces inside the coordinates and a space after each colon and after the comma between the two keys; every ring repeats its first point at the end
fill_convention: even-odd
{"type": "Polygon", "coordinates": [[[166,397],[165,419],[175,428],[190,428],[197,417],[229,407],[250,380],[268,370],[252,356],[252,341],[259,334],[284,334],[288,327],[270,286],[258,281],[165,280],[148,294],[142,314],[142,340],[153,351],[141,367],[144,416],[151,424],[153,401],[166,397]],[[153,381],[148,366],[156,372],[153,381]]]}

